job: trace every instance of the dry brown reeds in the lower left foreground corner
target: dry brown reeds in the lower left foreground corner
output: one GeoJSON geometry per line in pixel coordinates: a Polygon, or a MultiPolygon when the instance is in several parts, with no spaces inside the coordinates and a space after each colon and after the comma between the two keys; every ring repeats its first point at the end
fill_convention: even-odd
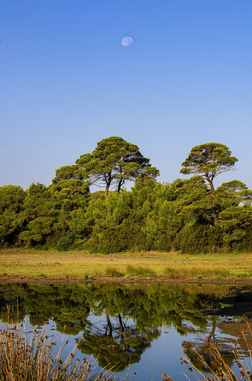
{"type": "MultiPolygon", "coordinates": [[[[10,315],[10,314],[9,314],[10,315]]],[[[74,359],[77,346],[67,358],[64,358],[62,343],[54,354],[53,335],[49,339],[46,327],[42,332],[33,328],[30,340],[27,337],[25,323],[7,324],[6,330],[0,330],[0,380],[1,381],[115,381],[111,371],[98,371],[96,361],[80,362],[74,359]]],[[[66,342],[67,343],[67,342],[66,342]]],[[[108,364],[109,367],[109,364],[108,364]]],[[[121,381],[127,380],[120,378],[121,381]]],[[[129,380],[130,381],[130,380],[129,380]]]]}

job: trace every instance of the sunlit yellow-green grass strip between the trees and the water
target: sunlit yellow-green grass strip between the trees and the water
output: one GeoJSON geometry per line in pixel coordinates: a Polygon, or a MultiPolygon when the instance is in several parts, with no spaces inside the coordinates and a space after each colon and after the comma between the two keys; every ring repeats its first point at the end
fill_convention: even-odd
{"type": "Polygon", "coordinates": [[[0,281],[123,279],[251,280],[251,254],[88,254],[80,251],[0,250],[0,281]]]}

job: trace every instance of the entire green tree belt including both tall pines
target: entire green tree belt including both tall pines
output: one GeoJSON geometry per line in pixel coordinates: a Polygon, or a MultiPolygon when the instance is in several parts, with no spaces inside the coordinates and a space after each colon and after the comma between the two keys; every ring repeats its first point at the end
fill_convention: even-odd
{"type": "Polygon", "coordinates": [[[160,183],[138,146],[102,139],[91,154],[57,169],[48,187],[0,187],[0,247],[252,252],[252,191],[239,180],[214,187],[237,161],[224,144],[201,144],[182,163],[186,177],[160,183]],[[101,189],[91,192],[93,185],[101,189]]]}

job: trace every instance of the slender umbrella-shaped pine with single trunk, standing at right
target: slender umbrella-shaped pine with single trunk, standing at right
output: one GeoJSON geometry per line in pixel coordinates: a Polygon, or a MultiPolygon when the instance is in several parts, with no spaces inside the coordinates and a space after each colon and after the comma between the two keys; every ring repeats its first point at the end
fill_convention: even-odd
{"type": "Polygon", "coordinates": [[[182,163],[183,168],[180,173],[183,174],[201,174],[209,184],[210,194],[212,196],[211,202],[211,216],[213,222],[218,218],[215,209],[215,189],[214,178],[220,173],[235,170],[234,164],[238,159],[231,156],[230,149],[224,144],[220,143],[206,143],[191,149],[188,158],[182,163]]]}

